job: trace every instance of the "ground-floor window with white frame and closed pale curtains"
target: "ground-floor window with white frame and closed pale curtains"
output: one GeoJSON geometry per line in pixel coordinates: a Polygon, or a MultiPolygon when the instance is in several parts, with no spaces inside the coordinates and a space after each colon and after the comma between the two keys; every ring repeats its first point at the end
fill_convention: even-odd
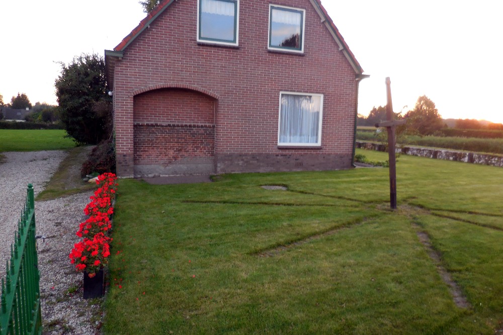
{"type": "Polygon", "coordinates": [[[278,145],[320,146],[322,94],[281,92],[278,145]]]}

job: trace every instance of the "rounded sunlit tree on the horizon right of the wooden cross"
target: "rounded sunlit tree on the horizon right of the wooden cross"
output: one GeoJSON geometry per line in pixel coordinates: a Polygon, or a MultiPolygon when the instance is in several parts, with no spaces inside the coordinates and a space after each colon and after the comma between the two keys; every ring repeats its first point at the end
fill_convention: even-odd
{"type": "Polygon", "coordinates": [[[445,127],[435,103],[426,95],[420,96],[415,107],[405,114],[406,130],[409,133],[432,135],[445,127]]]}

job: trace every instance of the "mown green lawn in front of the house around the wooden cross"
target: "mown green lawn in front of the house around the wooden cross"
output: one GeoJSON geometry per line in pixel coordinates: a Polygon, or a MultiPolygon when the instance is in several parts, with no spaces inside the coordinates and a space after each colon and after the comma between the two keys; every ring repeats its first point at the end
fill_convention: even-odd
{"type": "MultiPolygon", "coordinates": [[[[370,160],[382,153],[358,150],[370,160]]],[[[493,334],[503,169],[401,156],[388,171],[121,180],[106,334],[493,334]],[[284,185],[267,190],[262,185],[284,185]],[[470,306],[456,306],[420,242],[470,306]]]]}

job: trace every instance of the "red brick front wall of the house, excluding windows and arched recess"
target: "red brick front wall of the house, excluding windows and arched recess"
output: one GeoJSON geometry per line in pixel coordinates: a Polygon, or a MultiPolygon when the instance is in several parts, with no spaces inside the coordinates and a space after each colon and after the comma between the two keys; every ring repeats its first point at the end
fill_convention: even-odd
{"type": "Polygon", "coordinates": [[[240,2],[238,48],[198,44],[197,1],[181,0],[124,50],[116,65],[114,87],[120,176],[132,175],[133,120],[143,118],[135,116],[133,95],[153,85],[195,87],[217,97],[217,172],[261,170],[244,162],[271,155],[291,157],[292,162],[306,154],[320,162],[328,159],[320,169],[350,167],[355,72],[308,0],[274,1],[306,10],[304,54],[268,51],[269,4],[265,0],[240,2]],[[321,149],[278,149],[280,91],[324,95],[321,149]],[[239,157],[241,169],[225,163],[232,159],[235,167],[239,157]]]}

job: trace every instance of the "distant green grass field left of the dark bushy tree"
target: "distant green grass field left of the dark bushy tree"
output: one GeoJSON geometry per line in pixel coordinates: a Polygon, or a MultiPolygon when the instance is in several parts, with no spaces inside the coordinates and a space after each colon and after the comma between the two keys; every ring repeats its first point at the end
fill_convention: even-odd
{"type": "Polygon", "coordinates": [[[0,129],[0,152],[65,150],[75,147],[64,130],[0,129]]]}

